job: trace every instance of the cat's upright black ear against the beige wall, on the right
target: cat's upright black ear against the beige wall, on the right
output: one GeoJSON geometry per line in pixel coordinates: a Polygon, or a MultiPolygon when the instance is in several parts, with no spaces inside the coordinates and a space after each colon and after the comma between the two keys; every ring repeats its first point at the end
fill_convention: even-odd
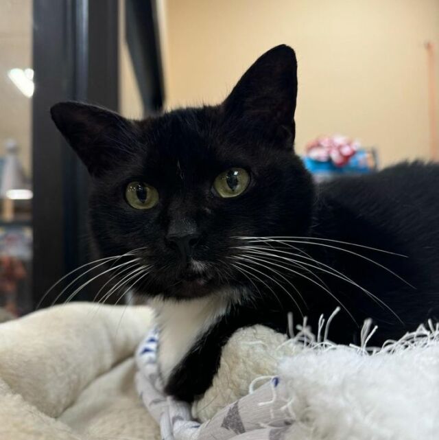
{"type": "Polygon", "coordinates": [[[223,105],[226,113],[291,148],[296,95],[296,54],[291,47],[280,45],[254,62],[223,105]]]}

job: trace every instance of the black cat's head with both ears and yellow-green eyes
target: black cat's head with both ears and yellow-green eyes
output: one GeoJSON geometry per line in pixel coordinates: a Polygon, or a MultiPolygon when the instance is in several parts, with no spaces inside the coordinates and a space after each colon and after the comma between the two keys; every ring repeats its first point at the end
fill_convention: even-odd
{"type": "Polygon", "coordinates": [[[313,185],[294,154],[296,94],[296,56],[281,45],[217,106],[133,121],[56,104],[55,124],[92,176],[102,256],[128,253],[125,274],[147,271],[132,281],[151,296],[248,294],[239,237],[302,235],[311,222],[313,185]]]}

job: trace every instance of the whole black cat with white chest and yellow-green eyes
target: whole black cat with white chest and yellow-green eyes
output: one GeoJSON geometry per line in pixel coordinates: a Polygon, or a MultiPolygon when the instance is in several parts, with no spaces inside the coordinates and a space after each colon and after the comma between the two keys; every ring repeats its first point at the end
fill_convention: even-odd
{"type": "Polygon", "coordinates": [[[157,310],[162,375],[182,400],[209,387],[239,327],[287,332],[292,312],[316,329],[340,305],[331,339],[355,341],[370,317],[382,343],[438,318],[439,165],[314,185],[293,150],[296,92],[281,45],[217,106],[143,121],[51,110],[93,178],[102,256],[123,255],[121,285],[157,310]]]}

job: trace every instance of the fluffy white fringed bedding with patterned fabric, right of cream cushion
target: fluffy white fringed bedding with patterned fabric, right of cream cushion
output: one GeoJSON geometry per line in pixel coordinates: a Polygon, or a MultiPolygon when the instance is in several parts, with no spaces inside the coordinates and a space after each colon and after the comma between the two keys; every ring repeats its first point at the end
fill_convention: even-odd
{"type": "Polygon", "coordinates": [[[161,393],[153,331],[137,350],[137,389],[167,440],[438,439],[439,326],[368,349],[375,331],[366,322],[361,346],[346,347],[323,319],[317,336],[300,325],[288,340],[241,329],[191,408],[161,393]]]}

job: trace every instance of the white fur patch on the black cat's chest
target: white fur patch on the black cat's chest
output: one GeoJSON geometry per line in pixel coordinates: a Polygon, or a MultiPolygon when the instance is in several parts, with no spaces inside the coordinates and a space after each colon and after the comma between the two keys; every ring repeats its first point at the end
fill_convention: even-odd
{"type": "Polygon", "coordinates": [[[196,340],[227,313],[229,299],[226,297],[212,295],[190,301],[152,301],[150,305],[156,311],[156,324],[160,330],[158,366],[165,382],[196,340]]]}

